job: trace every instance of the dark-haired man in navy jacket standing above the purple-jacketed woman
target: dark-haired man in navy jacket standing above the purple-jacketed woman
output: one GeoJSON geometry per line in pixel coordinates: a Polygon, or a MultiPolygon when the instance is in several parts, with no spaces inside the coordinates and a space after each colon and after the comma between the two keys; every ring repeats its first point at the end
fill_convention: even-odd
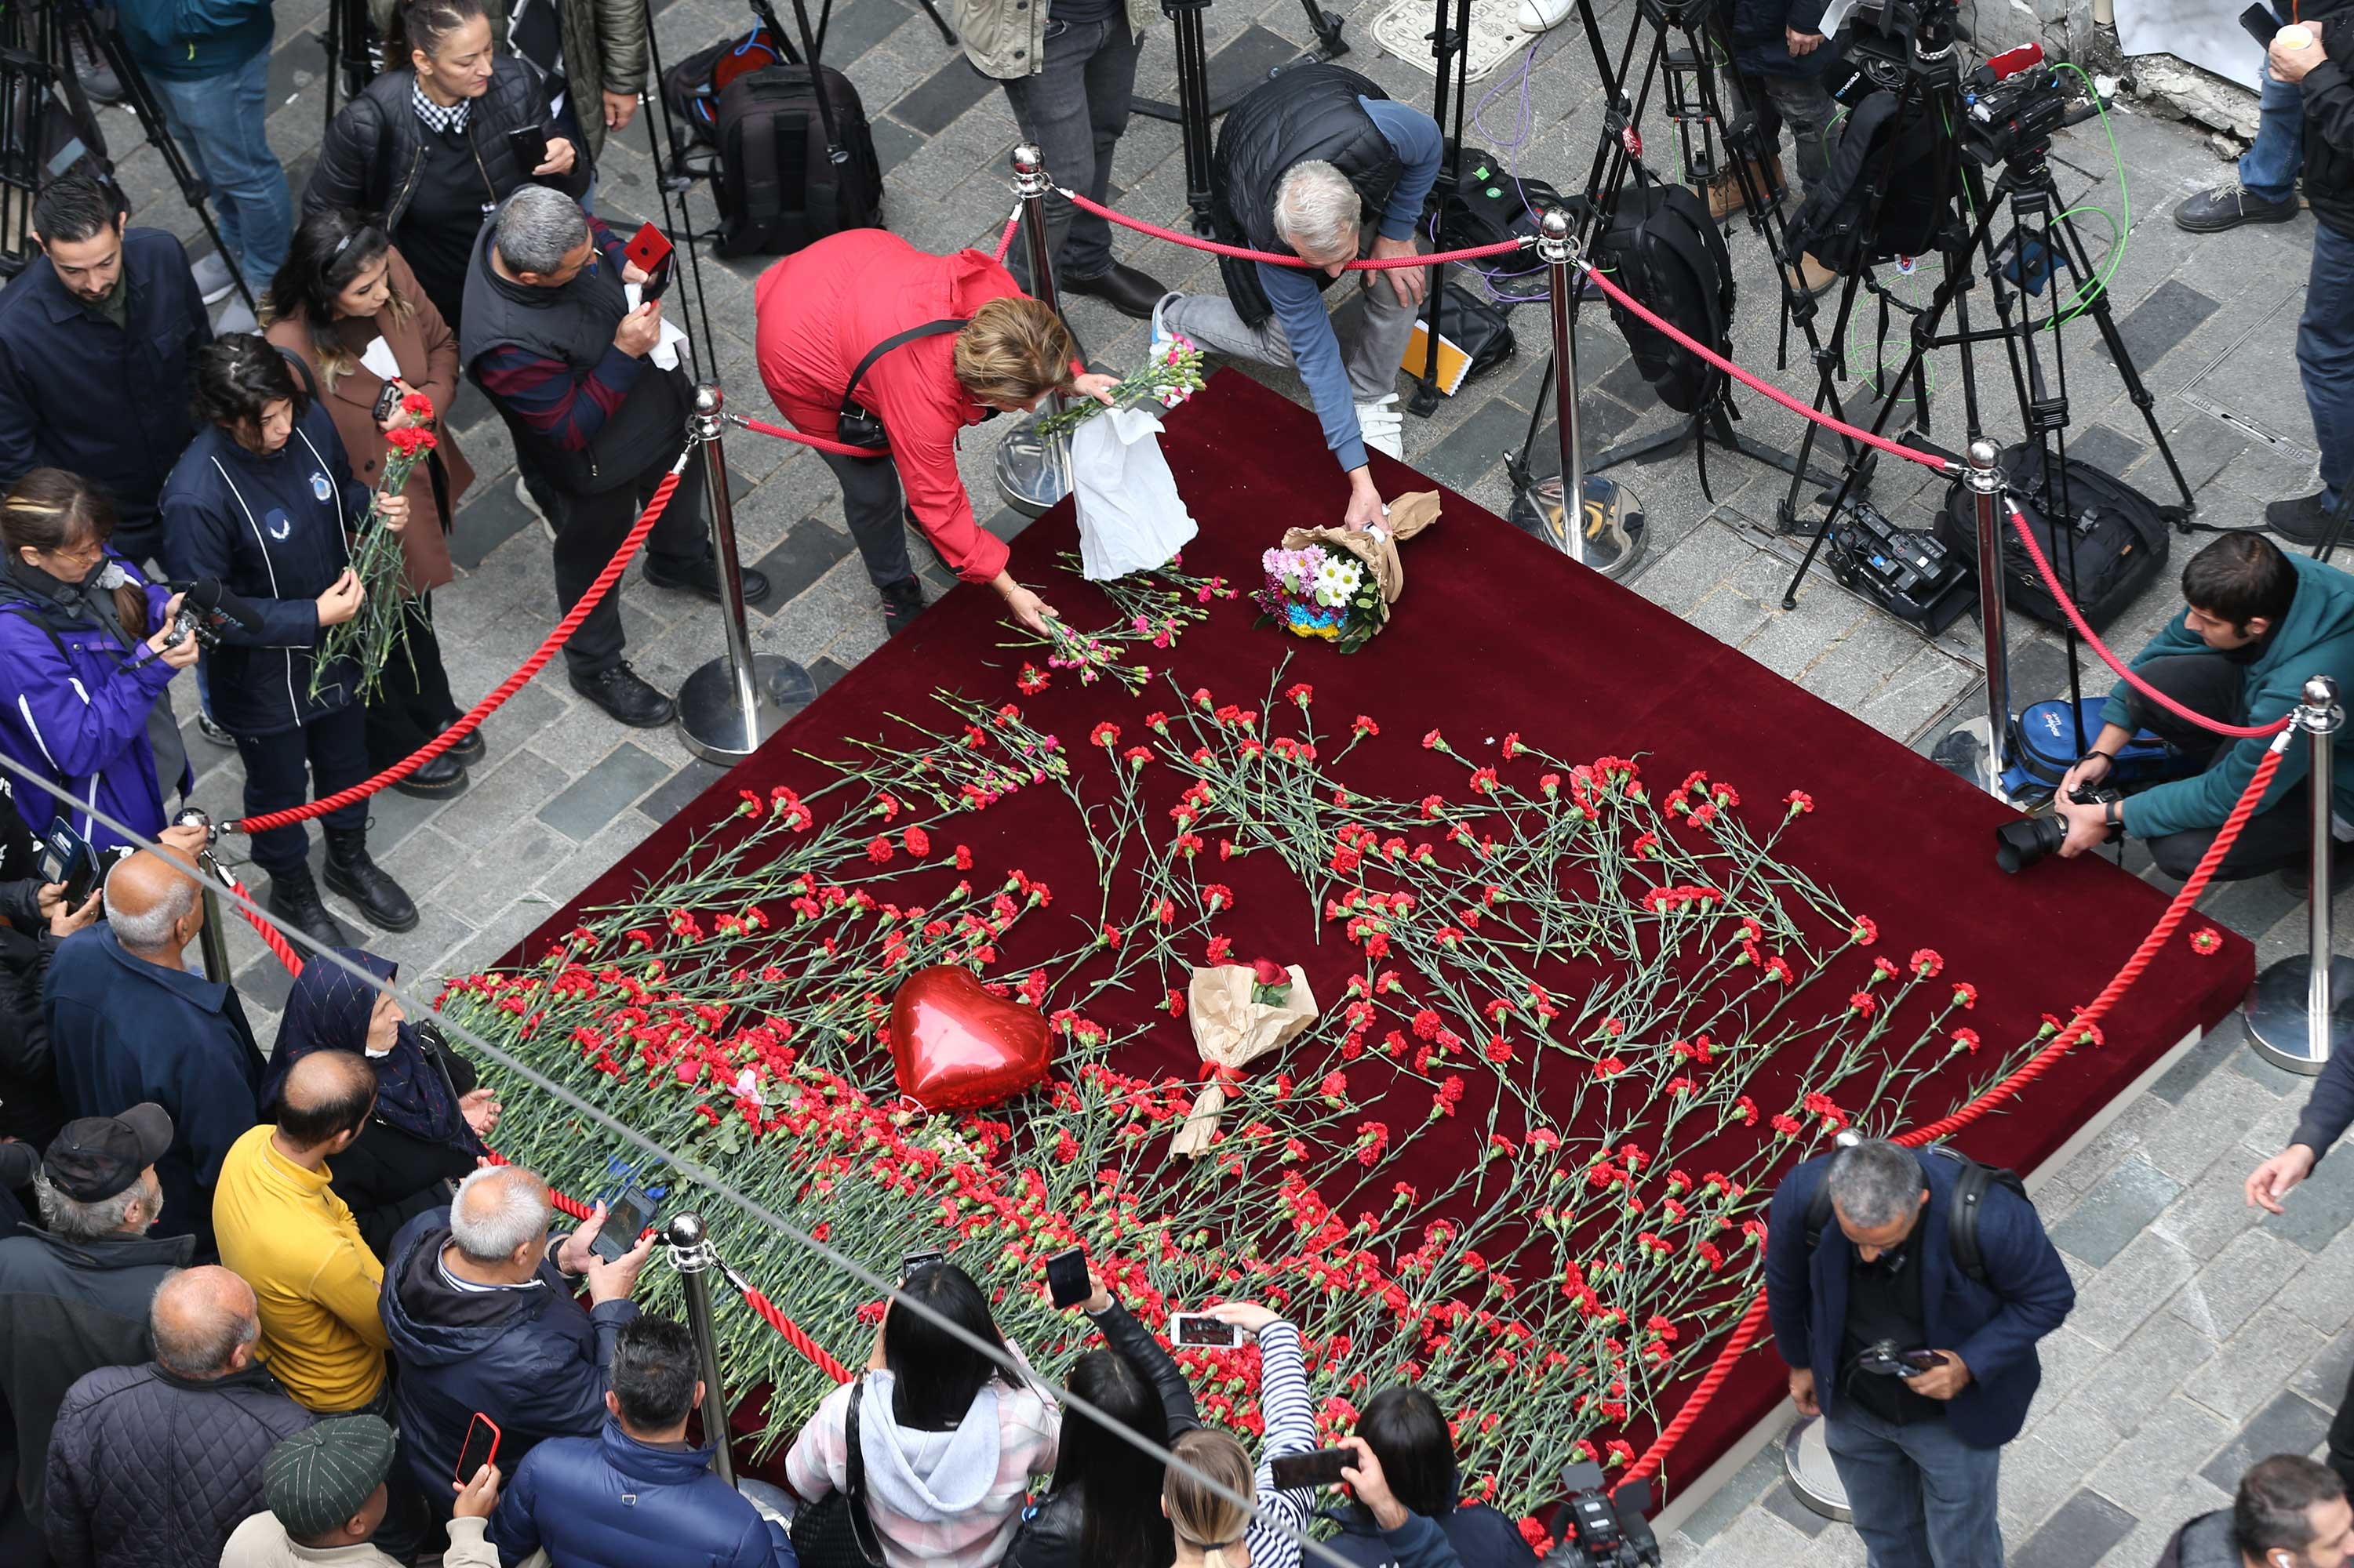
{"type": "Polygon", "coordinates": [[[97,480],[115,549],[146,560],[162,546],[155,494],[195,436],[191,363],[212,325],[179,240],[122,221],[85,174],[33,205],[42,259],[0,290],[0,487],[31,469],[97,480]]]}

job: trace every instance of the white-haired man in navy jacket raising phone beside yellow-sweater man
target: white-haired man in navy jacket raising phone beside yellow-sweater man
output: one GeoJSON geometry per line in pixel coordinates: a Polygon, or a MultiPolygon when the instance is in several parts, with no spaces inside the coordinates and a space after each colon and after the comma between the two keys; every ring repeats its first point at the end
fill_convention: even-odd
{"type": "Polygon", "coordinates": [[[596,1250],[598,1203],[570,1236],[551,1236],[548,1184],[516,1165],[459,1182],[450,1208],[393,1236],[377,1307],[393,1340],[400,1460],[450,1516],[450,1476],[476,1413],[499,1422],[499,1469],[534,1443],[596,1436],[605,1424],[614,1335],[638,1316],[629,1293],[654,1238],[614,1260],[596,1250]],[[588,1309],[574,1300],[586,1285],[588,1309]]]}

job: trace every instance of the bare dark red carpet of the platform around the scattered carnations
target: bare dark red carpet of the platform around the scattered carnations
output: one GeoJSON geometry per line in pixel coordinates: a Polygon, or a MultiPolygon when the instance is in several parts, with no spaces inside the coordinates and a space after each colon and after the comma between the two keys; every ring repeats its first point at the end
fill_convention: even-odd
{"type": "MultiPolygon", "coordinates": [[[[1168,459],[1201,523],[1201,537],[1184,558],[1189,572],[1217,572],[1243,589],[1257,589],[1259,553],[1288,525],[1339,520],[1344,483],[1306,410],[1224,372],[1168,424],[1168,459]]],[[[1375,457],[1375,478],[1391,497],[1429,487],[1382,457],[1375,457]]],[[[1838,961],[1853,970],[1853,984],[1864,982],[1874,954],[1893,954],[1895,963],[1904,963],[1914,949],[1935,949],[1949,982],[1977,989],[1975,1008],[1951,1022],[1975,1029],[1987,1041],[1987,1055],[1973,1059],[1956,1052],[1949,1067],[1916,1083],[1904,1125],[1963,1104],[1984,1085],[2003,1050],[2017,1050],[2036,1036],[2043,1015],[2067,1017],[2088,1003],[2156,921],[2163,899],[2095,859],[2050,862],[2029,876],[2003,876],[1994,866],[1991,831],[2008,812],[1996,803],[1742,652],[1636,593],[1577,570],[1469,501],[1445,494],[1443,506],[1441,523],[1403,546],[1405,596],[1391,629],[1365,652],[1339,657],[1323,643],[1255,629],[1257,610],[1248,600],[1233,600],[1217,605],[1205,624],[1191,626],[1175,655],[1163,655],[1177,687],[1186,695],[1208,690],[1219,704],[1262,706],[1274,727],[1276,713],[1285,711],[1283,685],[1311,683],[1328,749],[1346,739],[1351,716],[1368,713],[1379,723],[1382,735],[1361,742],[1346,770],[1368,789],[1403,800],[1427,791],[1462,796],[1462,763],[1424,749],[1419,737],[1427,730],[1441,730],[1457,751],[1476,760],[1495,760],[1497,742],[1509,732],[1558,758],[1638,758],[1655,793],[1669,791],[1693,770],[1707,770],[1711,779],[1735,784],[1747,803],[1744,812],[1766,826],[1777,819],[1789,791],[1806,791],[1815,810],[1791,822],[1775,857],[1834,892],[1848,911],[1876,923],[1878,944],[1838,961]],[[1290,664],[1276,676],[1283,659],[1290,664]]],[[[1038,586],[1071,624],[1099,626],[1109,619],[1102,596],[1057,565],[1057,556],[1071,549],[1073,513],[1064,504],[1019,537],[1012,572],[1038,586]]],[[[1817,584],[1813,591],[1834,589],[1817,584]]],[[[546,951],[584,911],[636,897],[650,881],[659,881],[699,831],[737,812],[739,789],[767,791],[784,784],[810,791],[824,784],[831,775],[800,753],[845,758],[855,753],[850,742],[878,737],[906,744],[892,716],[920,716],[930,727],[953,735],[953,723],[942,720],[935,706],[939,690],[986,704],[1022,702],[1029,723],[1062,737],[1078,770],[1118,765],[1085,744],[1097,723],[1118,723],[1130,742],[1151,742],[1144,713],[1182,706],[1182,697],[1158,676],[1144,695],[1128,697],[1111,683],[1083,687],[1062,671],[1052,690],[1017,697],[1017,669],[1024,659],[1043,664],[1043,657],[1036,650],[998,650],[1005,638],[998,617],[1000,603],[984,589],[960,589],[942,600],[911,633],[864,659],[756,758],[612,866],[572,909],[556,913],[525,944],[525,954],[546,951]]],[[[1158,765],[1146,775],[1170,775],[1165,784],[1146,789],[1151,810],[1144,819],[1161,826],[1161,805],[1177,796],[1179,779],[1175,770],[1158,765]]],[[[975,881],[986,885],[1019,866],[1057,890],[1055,906],[1024,921],[1005,942],[1003,965],[993,972],[1019,975],[1048,954],[1069,951],[1073,932],[1085,930],[1078,923],[1092,925],[1097,918],[1095,859],[1088,838],[1076,831],[1069,800],[1057,791],[1024,789],[1008,796],[986,812],[958,819],[953,836],[972,848],[975,881]]],[[[1339,923],[1316,921],[1314,899],[1271,855],[1236,857],[1205,871],[1205,878],[1212,876],[1233,888],[1233,911],[1217,921],[1217,930],[1231,937],[1233,954],[1243,961],[1266,954],[1304,965],[1325,1008],[1337,1008],[1349,977],[1368,968],[1363,954],[1342,937],[1339,923]]],[[[1123,909],[1123,899],[1128,892],[1113,888],[1106,906],[1123,909]]],[[[2196,928],[2194,921],[2189,930],[2196,928]]],[[[2225,937],[2213,956],[2194,956],[2177,939],[2104,1022],[2100,1045],[2081,1048],[2015,1107],[1970,1128],[1963,1144],[1982,1161],[2032,1170],[2185,1034],[2225,1017],[2250,972],[2253,954],[2236,937],[2225,937]]],[[[1575,965],[1565,965],[1565,975],[1568,984],[1580,984],[1575,965]]],[[[1841,982],[1838,991],[1846,989],[1841,982]]],[[[1158,986],[1146,982],[1097,996],[1090,1015],[1116,1031],[1151,1026],[1142,1043],[1121,1050],[1113,1062],[1118,1069],[1198,1078],[1186,1024],[1163,1010],[1158,986]]],[[[1271,1071],[1271,1064],[1262,1067],[1271,1071]]],[[[862,1055],[850,1069],[873,1083],[880,1076],[878,1055],[862,1055]]],[[[1775,1078],[1775,1064],[1766,1064],[1756,1076],[1758,1099],[1768,1099],[1768,1088],[1784,1097],[1770,1102],[1768,1111],[1794,1104],[1794,1071],[1775,1078]]],[[[1572,1090],[1587,1083],[1587,1059],[1544,1057],[1542,1074],[1537,1102],[1554,1095],[1568,1107],[1572,1090]]],[[[1869,1076],[1850,1078],[1846,1088],[1860,1090],[1867,1083],[1869,1076]]],[[[1358,1088],[1361,1097],[1365,1092],[1368,1088],[1358,1088]]],[[[1483,1088],[1474,1088],[1467,1111],[1478,1111],[1481,1092],[1483,1088]]],[[[1850,1114],[1864,1111],[1855,1104],[1860,1095],[1843,1097],[1850,1114]]],[[[1368,1114],[1396,1125],[1424,1123],[1429,1081],[1401,1074],[1368,1114]]],[[[1019,1109],[1008,1114],[1010,1121],[1019,1116],[1019,1109]]],[[[1342,1125],[1354,1121],[1356,1116],[1342,1125]]],[[[1457,1172],[1481,1165],[1490,1128],[1481,1114],[1452,1121],[1431,1114],[1427,1132],[1412,1142],[1410,1161],[1396,1170],[1398,1180],[1445,1187],[1457,1172]]],[[[1504,1130],[1516,1128],[1507,1123],[1504,1130]]],[[[1568,1142],[1575,1144],[1582,1130],[1587,1140],[1594,1137],[1594,1130],[1570,1123],[1568,1142]]],[[[1761,1135],[1763,1128],[1740,1130],[1740,1149],[1754,1154],[1761,1135]]],[[[1725,1154],[1733,1149],[1728,1135],[1697,1140],[1690,1149],[1678,1149],[1678,1158],[1693,1170],[1711,1154],[1728,1170],[1740,1170],[1733,1154],[1725,1154]]],[[[1565,1149],[1563,1158],[1584,1168],[1589,1154],[1580,1149],[1570,1158],[1565,1149]]],[[[1346,1158],[1342,1170],[1356,1175],[1346,1158]]],[[[1754,1170],[1763,1172],[1763,1161],[1754,1170]]],[[[1391,1172],[1382,1175],[1387,1198],[1391,1172]]],[[[1766,1182],[1770,1175],[1756,1187],[1763,1189],[1766,1182]]],[[[1737,1243],[1740,1231],[1728,1231],[1728,1248],[1737,1243]]],[[[779,1304],[793,1311],[793,1302],[779,1304]]],[[[845,1361],[864,1356],[864,1340],[840,1342],[847,1337],[843,1326],[805,1326],[845,1361]]],[[[1704,1368],[1707,1354],[1688,1370],[1704,1368]]],[[[1683,1441],[1669,1481],[1697,1476],[1782,1396],[1780,1363],[1761,1347],[1683,1441]]],[[[1660,1391],[1653,1413],[1664,1420],[1678,1398],[1674,1387],[1660,1391]]],[[[1591,1415],[1575,1422],[1580,1431],[1591,1427],[1591,1415]]],[[[1636,1413],[1596,1436],[1624,1436],[1641,1450],[1650,1431],[1653,1422],[1636,1413]]],[[[1537,1464],[1551,1469],[1561,1457],[1537,1464]]]]}

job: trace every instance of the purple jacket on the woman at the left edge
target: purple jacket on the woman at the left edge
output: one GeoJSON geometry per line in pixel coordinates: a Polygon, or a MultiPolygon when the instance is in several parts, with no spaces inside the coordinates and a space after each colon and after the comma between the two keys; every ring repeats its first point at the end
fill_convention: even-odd
{"type": "MultiPolygon", "coordinates": [[[[160,622],[172,593],[113,551],[106,558],[146,586],[148,619],[160,622]]],[[[92,848],[125,843],[92,810],[148,838],[165,826],[146,723],[177,673],[144,640],[125,650],[85,605],[42,598],[0,570],[0,753],[73,796],[73,831],[92,848]]],[[[54,796],[24,779],[14,789],[26,826],[40,831],[54,796]]]]}

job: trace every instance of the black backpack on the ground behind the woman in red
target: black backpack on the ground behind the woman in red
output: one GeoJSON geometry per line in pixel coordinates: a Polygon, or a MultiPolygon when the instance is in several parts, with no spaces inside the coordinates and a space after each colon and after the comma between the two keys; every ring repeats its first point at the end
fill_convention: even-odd
{"type": "Polygon", "coordinates": [[[819,66],[833,129],[847,158],[826,158],[826,122],[807,66],[749,71],[713,111],[720,257],[786,257],[845,228],[883,226],[883,165],[859,89],[819,66]]]}

